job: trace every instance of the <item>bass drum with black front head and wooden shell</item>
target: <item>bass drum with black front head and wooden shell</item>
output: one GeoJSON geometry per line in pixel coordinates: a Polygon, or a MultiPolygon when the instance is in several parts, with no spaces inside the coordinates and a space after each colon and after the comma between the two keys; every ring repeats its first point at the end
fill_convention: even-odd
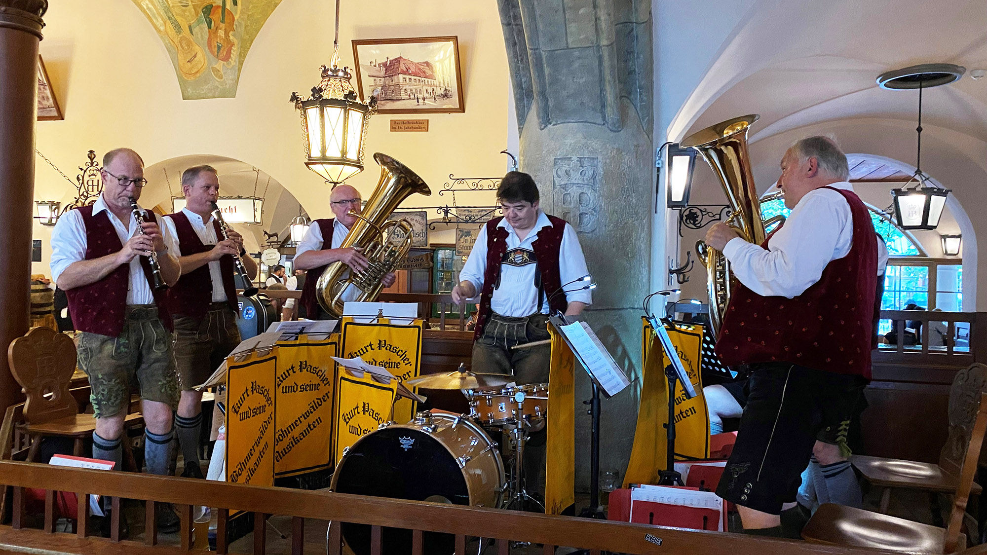
{"type": "MultiPolygon", "coordinates": [[[[353,443],[336,466],[330,489],[497,508],[504,485],[500,453],[473,421],[463,415],[418,413],[413,422],[384,425],[353,443]]],[[[342,539],[355,555],[370,553],[369,525],[342,523],[342,539]]],[[[384,528],[381,539],[384,555],[411,553],[412,530],[384,528]]],[[[455,551],[452,534],[424,532],[422,541],[423,553],[455,551]]]]}

